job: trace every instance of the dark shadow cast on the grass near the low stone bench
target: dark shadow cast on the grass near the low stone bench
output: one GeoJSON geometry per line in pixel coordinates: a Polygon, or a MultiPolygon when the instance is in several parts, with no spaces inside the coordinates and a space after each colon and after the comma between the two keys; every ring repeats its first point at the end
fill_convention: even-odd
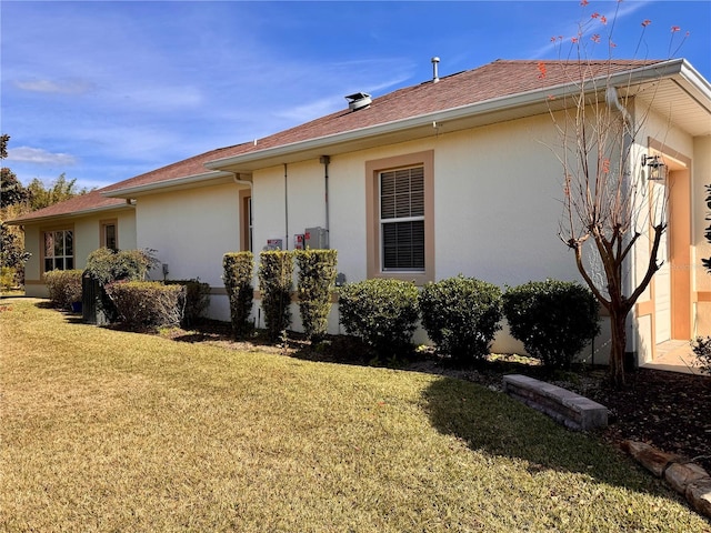
{"type": "MultiPolygon", "coordinates": [[[[505,394],[451,378],[423,393],[432,426],[471,450],[523,460],[531,475],[547,470],[573,472],[638,492],[662,494],[653,477],[598,435],[555,424],[505,394]]],[[[668,492],[667,494],[671,494],[668,492]]]]}

